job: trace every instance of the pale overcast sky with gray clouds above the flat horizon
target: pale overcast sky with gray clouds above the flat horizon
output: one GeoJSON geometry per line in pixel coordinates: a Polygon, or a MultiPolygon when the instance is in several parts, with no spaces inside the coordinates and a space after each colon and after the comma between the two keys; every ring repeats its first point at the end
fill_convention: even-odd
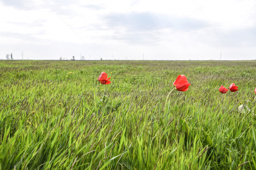
{"type": "Polygon", "coordinates": [[[256,60],[255,0],[0,0],[0,59],[256,60]]]}

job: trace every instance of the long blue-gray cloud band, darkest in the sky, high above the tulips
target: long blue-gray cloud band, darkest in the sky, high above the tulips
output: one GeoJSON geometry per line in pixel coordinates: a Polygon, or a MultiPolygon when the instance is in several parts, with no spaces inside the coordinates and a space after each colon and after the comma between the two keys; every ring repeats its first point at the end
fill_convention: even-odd
{"type": "MultiPolygon", "coordinates": [[[[116,23],[123,14],[110,14],[105,17],[109,26],[116,23]]],[[[145,31],[145,30],[160,30],[164,28],[172,28],[174,30],[181,30],[192,19],[178,18],[166,14],[156,14],[152,12],[132,12],[124,15],[116,25],[124,26],[129,31],[145,31]]],[[[201,29],[208,27],[210,24],[206,21],[194,19],[186,29],[201,29]]]]}

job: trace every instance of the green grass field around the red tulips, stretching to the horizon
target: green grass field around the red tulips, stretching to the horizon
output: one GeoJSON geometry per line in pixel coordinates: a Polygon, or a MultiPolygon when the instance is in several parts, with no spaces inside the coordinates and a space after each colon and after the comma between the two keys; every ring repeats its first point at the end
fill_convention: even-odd
{"type": "Polygon", "coordinates": [[[256,61],[0,61],[0,169],[256,169],[255,87],[256,61]]]}

